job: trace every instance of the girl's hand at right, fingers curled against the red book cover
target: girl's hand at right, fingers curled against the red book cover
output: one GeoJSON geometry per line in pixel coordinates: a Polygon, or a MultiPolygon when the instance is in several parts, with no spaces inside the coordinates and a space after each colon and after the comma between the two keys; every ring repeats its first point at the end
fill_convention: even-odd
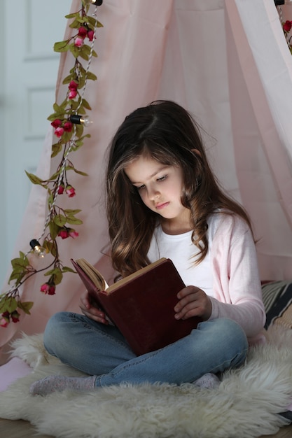
{"type": "Polygon", "coordinates": [[[187,286],[177,294],[179,302],[174,307],[174,318],[188,319],[192,316],[200,316],[203,320],[210,318],[212,304],[204,290],[195,286],[187,286]]]}

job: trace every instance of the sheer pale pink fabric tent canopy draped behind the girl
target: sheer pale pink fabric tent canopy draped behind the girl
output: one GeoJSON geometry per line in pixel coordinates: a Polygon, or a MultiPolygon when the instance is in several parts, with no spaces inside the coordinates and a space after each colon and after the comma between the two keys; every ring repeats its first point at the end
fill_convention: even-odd
{"type": "MultiPolygon", "coordinates": [[[[71,12],[79,8],[74,0],[71,12]]],[[[90,9],[93,13],[95,6],[90,9]]],[[[283,10],[292,20],[292,7],[283,10]]],[[[70,156],[76,169],[89,176],[72,175],[76,197],[62,198],[64,208],[82,209],[84,223],[78,239],[60,242],[64,264],[85,257],[111,278],[104,255],[106,148],[127,113],[155,99],[172,99],[204,127],[218,179],[251,215],[261,278],[291,279],[292,57],[274,1],[104,0],[97,13],[104,27],[97,31],[99,56],[90,71],[98,80],[89,81],[85,92],[92,106],[91,139],[70,156]]],[[[66,37],[71,31],[66,29],[66,37]]],[[[70,54],[62,54],[57,101],[67,92],[62,79],[73,62],[70,54]]],[[[52,136],[48,132],[39,163],[42,179],[59,163],[58,157],[50,160],[52,136]]],[[[14,256],[41,236],[45,218],[46,190],[33,186],[14,256]]],[[[83,287],[76,275],[65,275],[54,296],[39,292],[43,282],[38,274],[22,290],[23,300],[34,301],[32,315],[0,328],[2,362],[8,341],[20,331],[42,332],[56,311],[78,311],[83,287]]]]}

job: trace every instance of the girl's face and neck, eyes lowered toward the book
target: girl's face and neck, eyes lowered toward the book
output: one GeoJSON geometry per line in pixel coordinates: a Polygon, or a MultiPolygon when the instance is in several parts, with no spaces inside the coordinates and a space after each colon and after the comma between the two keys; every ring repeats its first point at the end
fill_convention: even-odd
{"type": "Polygon", "coordinates": [[[190,210],[181,204],[182,171],[141,155],[125,168],[144,204],[162,217],[162,229],[180,234],[190,227],[190,210]]]}

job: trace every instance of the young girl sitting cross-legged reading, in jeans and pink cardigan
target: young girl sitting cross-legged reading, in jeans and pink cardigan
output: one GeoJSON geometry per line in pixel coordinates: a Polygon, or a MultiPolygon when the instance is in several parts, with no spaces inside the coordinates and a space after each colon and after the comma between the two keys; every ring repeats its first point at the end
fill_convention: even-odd
{"type": "Polygon", "coordinates": [[[83,314],[55,314],[44,343],[89,376],[48,376],[31,393],[122,382],[216,386],[221,372],[244,363],[247,339],[265,324],[248,216],[219,187],[197,125],[172,101],[125,118],[111,144],[106,182],[113,267],[127,276],[169,257],[187,285],[174,318],[203,321],[187,337],[137,357],[85,292],[83,314]]]}

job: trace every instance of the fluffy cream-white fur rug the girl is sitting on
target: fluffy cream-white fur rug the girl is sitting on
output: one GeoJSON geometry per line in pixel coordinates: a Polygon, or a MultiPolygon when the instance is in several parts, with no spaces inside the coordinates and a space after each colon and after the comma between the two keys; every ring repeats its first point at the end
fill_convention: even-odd
{"type": "Polygon", "coordinates": [[[265,346],[251,348],[246,365],[226,373],[218,389],[194,385],[111,386],[90,393],[66,390],[29,395],[49,374],[80,372],[43,349],[41,335],[23,335],[13,356],[34,372],[0,393],[0,417],[24,419],[60,438],[255,438],[288,423],[277,413],[292,400],[292,330],[273,327],[265,346]]]}

